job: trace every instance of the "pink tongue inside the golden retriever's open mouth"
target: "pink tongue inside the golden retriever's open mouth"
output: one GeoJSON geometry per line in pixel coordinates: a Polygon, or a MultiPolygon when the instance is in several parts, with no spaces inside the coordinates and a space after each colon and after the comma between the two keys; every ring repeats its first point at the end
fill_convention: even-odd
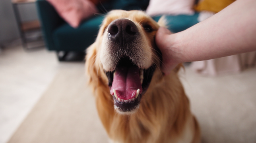
{"type": "Polygon", "coordinates": [[[113,89],[116,90],[117,97],[123,100],[134,98],[138,89],[140,89],[141,94],[140,69],[136,66],[116,68],[110,90],[111,95],[114,95],[113,89]]]}

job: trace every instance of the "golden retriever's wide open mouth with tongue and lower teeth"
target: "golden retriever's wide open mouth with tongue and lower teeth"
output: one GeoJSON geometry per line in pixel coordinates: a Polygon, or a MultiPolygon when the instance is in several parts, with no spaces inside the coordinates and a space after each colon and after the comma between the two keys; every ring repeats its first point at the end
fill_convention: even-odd
{"type": "Polygon", "coordinates": [[[121,112],[138,108],[152,79],[155,66],[141,69],[128,57],[122,57],[114,71],[106,72],[114,107],[121,112]]]}

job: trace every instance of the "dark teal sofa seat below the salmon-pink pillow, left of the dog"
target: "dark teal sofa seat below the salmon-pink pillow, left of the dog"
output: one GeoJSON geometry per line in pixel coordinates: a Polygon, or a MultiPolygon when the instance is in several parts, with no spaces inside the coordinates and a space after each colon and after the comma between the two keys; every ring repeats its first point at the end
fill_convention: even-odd
{"type": "Polygon", "coordinates": [[[103,19],[103,16],[93,17],[76,29],[67,23],[56,28],[52,35],[56,51],[84,51],[95,41],[103,19]]]}

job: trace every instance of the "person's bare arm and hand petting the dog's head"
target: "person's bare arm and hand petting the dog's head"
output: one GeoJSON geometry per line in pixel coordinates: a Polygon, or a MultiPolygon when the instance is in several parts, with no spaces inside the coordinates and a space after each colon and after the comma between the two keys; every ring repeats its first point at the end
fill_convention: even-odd
{"type": "Polygon", "coordinates": [[[255,51],[256,0],[237,0],[205,21],[170,34],[165,28],[160,28],[156,34],[165,74],[181,62],[255,51]]]}

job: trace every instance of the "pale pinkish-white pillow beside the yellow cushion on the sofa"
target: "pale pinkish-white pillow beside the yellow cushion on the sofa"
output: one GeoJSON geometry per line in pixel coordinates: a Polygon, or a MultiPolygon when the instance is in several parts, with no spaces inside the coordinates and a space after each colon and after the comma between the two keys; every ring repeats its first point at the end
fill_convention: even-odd
{"type": "Polygon", "coordinates": [[[155,15],[193,15],[195,0],[150,0],[146,13],[155,15]]]}

